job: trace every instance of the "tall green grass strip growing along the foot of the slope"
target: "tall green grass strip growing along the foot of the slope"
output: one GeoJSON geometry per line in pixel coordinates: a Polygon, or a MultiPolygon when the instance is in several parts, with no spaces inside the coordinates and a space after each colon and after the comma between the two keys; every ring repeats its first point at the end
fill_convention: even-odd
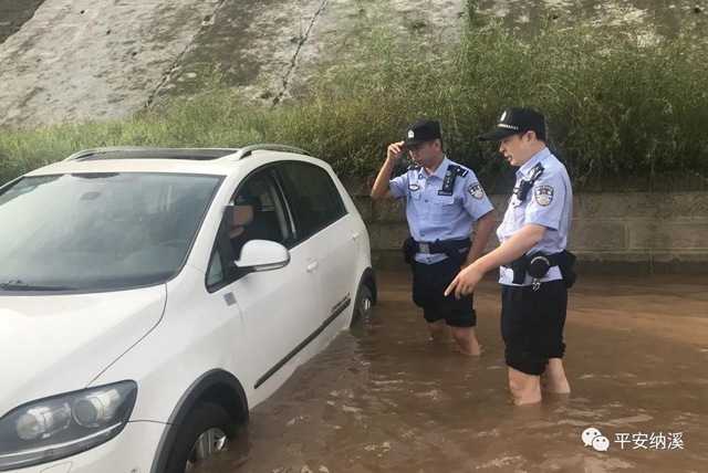
{"type": "Polygon", "coordinates": [[[385,13],[355,21],[362,34],[346,57],[275,107],[217,84],[125,120],[0,132],[0,182],[96,146],[258,141],[304,147],[345,178],[371,179],[386,146],[423,117],[440,120],[452,159],[508,175],[496,146],[477,136],[512,105],[545,114],[549,146],[577,186],[618,175],[708,175],[708,55],[690,29],[653,45],[590,21],[549,21],[519,36],[476,13],[450,45],[385,13]]]}

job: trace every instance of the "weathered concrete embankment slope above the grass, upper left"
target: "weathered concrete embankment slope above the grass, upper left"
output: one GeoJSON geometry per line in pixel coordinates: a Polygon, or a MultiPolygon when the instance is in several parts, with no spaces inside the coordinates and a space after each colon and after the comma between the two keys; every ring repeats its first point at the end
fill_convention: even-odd
{"type": "Polygon", "coordinates": [[[436,35],[442,31],[455,38],[467,4],[45,0],[28,20],[31,8],[12,7],[10,13],[12,3],[0,2],[0,13],[14,19],[7,27],[22,24],[14,34],[8,30],[0,44],[4,127],[125,118],[146,104],[198,92],[217,71],[222,83],[266,104],[278,103],[319,65],[336,60],[353,34],[351,20],[367,9],[392,8],[400,19],[393,28],[404,30],[406,19],[425,18],[436,35]]]}

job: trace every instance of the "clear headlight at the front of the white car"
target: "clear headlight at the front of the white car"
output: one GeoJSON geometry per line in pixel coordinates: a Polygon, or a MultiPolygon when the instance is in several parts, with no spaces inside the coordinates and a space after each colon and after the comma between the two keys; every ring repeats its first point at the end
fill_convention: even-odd
{"type": "Polygon", "coordinates": [[[93,449],[125,428],[137,385],[123,381],[42,399],[0,419],[0,472],[93,449]]]}

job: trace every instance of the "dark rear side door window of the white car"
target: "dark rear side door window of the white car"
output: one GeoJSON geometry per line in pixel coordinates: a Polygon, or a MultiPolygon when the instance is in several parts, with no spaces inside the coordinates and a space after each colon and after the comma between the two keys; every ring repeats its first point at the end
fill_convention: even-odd
{"type": "Polygon", "coordinates": [[[308,162],[284,162],[279,168],[295,211],[300,240],[346,214],[342,197],[326,170],[308,162]]]}

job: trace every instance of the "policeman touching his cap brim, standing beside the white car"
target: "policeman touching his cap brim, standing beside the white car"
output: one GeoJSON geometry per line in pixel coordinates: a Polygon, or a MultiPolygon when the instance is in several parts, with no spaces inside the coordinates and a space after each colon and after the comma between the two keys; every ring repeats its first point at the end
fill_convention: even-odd
{"type": "Polygon", "coordinates": [[[444,293],[460,269],[482,254],[493,229],[493,208],[475,172],[451,161],[442,151],[438,122],[414,123],[404,141],[388,147],[371,197],[406,198],[410,238],[404,252],[413,266],[413,301],[423,308],[433,339],[457,340],[462,354],[480,355],[471,292],[460,298],[444,293]],[[406,150],[414,166],[391,179],[406,150]],[[473,220],[479,225],[472,242],[473,220]]]}

